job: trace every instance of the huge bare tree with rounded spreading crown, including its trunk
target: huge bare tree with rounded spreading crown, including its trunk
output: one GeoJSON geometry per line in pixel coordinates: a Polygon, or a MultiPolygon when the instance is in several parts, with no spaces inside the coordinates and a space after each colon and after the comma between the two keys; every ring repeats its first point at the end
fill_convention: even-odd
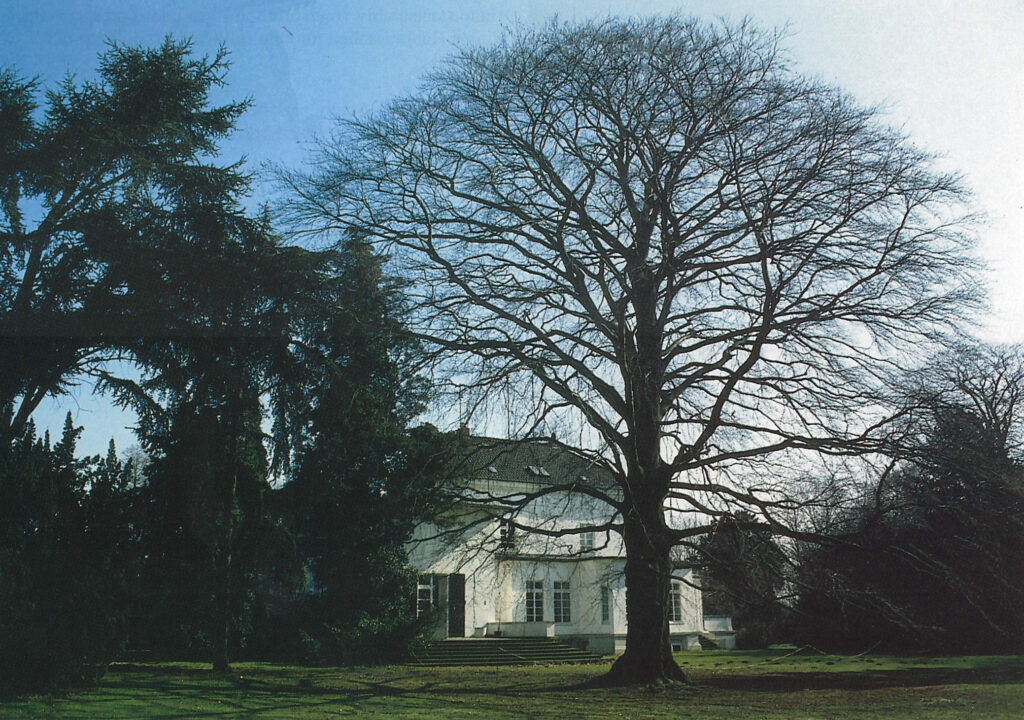
{"type": "Polygon", "coordinates": [[[463,408],[587,428],[628,554],[608,682],[682,678],[672,547],[739,509],[791,532],[806,499],[759,463],[874,449],[887,376],[976,294],[956,178],[777,45],[672,17],[513,31],[285,176],[293,221],[387,246],[463,408]]]}

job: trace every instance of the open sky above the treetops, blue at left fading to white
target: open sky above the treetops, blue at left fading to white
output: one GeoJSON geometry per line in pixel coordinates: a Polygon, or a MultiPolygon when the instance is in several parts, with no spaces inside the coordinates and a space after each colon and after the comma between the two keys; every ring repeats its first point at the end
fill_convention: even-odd
{"type": "MultiPolygon", "coordinates": [[[[797,68],[885,103],[893,125],[964,174],[987,216],[979,251],[991,310],[977,332],[1024,341],[1022,0],[0,0],[0,66],[49,84],[90,77],[106,40],[153,45],[170,34],[206,53],[224,44],[223,98],[254,101],[225,157],[295,167],[333,118],[414,90],[454,48],[490,44],[503,26],[652,13],[787,27],[797,68]]],[[[131,443],[130,419],[87,388],[47,404],[37,422],[57,430],[68,410],[86,425],[83,452],[111,436],[131,443]]]]}

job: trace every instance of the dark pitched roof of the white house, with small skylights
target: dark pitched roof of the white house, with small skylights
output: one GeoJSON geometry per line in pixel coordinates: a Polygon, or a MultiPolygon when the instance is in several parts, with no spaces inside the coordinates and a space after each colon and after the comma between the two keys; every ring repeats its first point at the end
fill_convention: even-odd
{"type": "Polygon", "coordinates": [[[615,485],[607,468],[552,438],[510,440],[471,436],[467,444],[460,474],[469,479],[553,485],[579,482],[602,490],[615,485]]]}

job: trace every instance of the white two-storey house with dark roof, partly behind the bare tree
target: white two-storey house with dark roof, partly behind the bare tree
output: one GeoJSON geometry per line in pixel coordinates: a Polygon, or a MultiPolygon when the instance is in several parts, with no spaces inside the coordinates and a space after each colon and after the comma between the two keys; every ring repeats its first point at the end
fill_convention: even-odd
{"type": "MultiPolygon", "coordinates": [[[[418,611],[444,608],[435,635],[549,636],[625,650],[625,550],[617,534],[598,530],[613,518],[594,497],[614,497],[607,471],[554,439],[469,444],[460,500],[417,527],[410,546],[418,611]]],[[[701,635],[733,646],[729,619],[705,618],[693,581],[691,568],[674,574],[674,648],[696,649],[701,635]]]]}

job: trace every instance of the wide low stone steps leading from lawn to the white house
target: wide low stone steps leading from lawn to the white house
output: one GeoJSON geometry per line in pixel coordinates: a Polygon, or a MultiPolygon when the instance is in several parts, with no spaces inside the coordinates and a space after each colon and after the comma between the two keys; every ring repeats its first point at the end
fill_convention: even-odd
{"type": "Polygon", "coordinates": [[[442,640],[413,657],[414,665],[551,665],[596,663],[601,655],[546,637],[480,637],[442,640]]]}

